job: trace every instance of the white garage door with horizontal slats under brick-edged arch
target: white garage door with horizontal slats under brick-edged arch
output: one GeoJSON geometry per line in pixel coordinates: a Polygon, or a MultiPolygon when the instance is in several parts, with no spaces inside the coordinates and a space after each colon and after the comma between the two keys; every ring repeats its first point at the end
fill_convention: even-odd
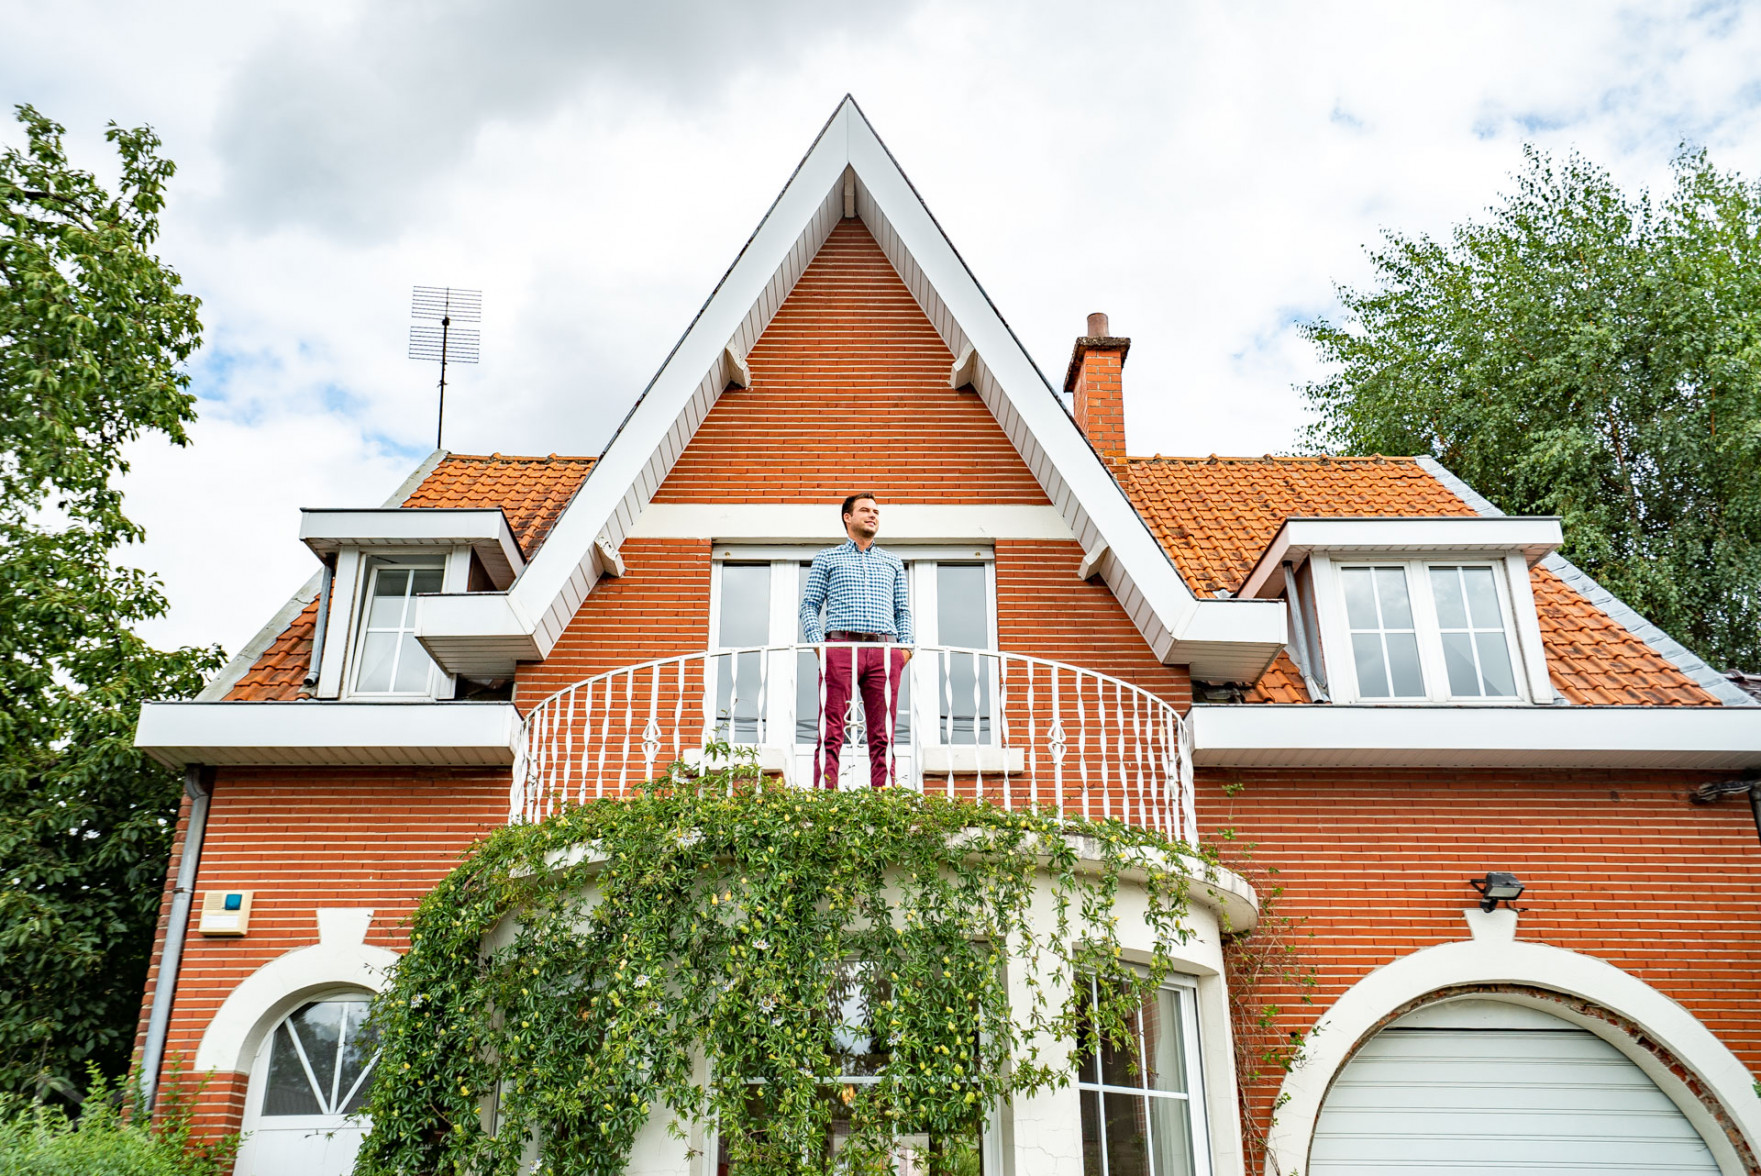
{"type": "Polygon", "coordinates": [[[1328,1091],[1310,1176],[1705,1172],[1669,1099],[1601,1037],[1493,1000],[1411,1012],[1328,1091]]]}

